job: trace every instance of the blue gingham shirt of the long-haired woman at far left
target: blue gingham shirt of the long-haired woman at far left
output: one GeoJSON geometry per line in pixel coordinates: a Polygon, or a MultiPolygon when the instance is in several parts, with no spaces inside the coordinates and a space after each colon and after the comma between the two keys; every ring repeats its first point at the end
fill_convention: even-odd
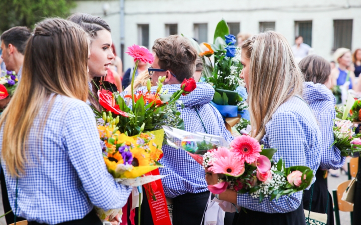
{"type": "Polygon", "coordinates": [[[30,221],[57,224],[83,218],[94,205],[105,210],[121,208],[131,187],[117,183],[107,171],[89,105],[57,95],[40,134],[46,108],[42,107],[30,129],[17,209],[16,178],[7,173],[6,161],[1,159],[13,211],[30,221]]]}

